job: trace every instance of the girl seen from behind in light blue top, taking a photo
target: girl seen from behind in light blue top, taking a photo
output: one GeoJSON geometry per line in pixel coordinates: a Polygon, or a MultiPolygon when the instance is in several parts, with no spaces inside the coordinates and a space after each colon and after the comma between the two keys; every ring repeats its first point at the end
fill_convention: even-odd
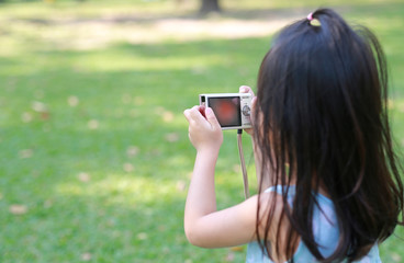
{"type": "Polygon", "coordinates": [[[403,225],[386,88],[384,55],[367,28],[328,9],[283,28],[262,60],[248,130],[258,195],[216,210],[222,130],[211,108],[184,111],[197,149],[189,241],[249,243],[247,262],[380,262],[378,244],[403,225]]]}

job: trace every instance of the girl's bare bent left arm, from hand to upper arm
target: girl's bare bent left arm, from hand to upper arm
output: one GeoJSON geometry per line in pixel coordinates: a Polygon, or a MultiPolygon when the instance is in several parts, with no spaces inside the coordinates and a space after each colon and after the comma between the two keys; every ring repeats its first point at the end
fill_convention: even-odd
{"type": "Polygon", "coordinates": [[[188,192],[184,230],[188,240],[199,247],[220,248],[254,240],[257,196],[224,210],[216,210],[214,170],[223,134],[211,108],[194,106],[184,111],[189,137],[197,159],[188,192]]]}

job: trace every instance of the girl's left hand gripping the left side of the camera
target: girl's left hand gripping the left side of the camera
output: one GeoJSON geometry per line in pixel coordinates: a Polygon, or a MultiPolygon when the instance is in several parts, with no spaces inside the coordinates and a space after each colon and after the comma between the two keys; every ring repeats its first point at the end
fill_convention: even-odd
{"type": "Polygon", "coordinates": [[[223,133],[212,108],[193,106],[183,112],[189,123],[189,138],[197,151],[215,150],[223,142],[223,133]]]}

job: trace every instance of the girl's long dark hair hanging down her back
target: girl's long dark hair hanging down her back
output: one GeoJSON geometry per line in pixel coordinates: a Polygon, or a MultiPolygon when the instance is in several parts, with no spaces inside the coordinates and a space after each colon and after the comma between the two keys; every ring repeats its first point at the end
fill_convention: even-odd
{"type": "MultiPolygon", "coordinates": [[[[282,218],[290,221],[288,245],[279,251],[276,244],[276,254],[292,259],[300,237],[318,261],[350,262],[403,224],[403,170],[389,126],[386,61],[366,27],[350,27],[329,9],[315,11],[313,19],[283,28],[260,67],[255,111],[260,185],[266,176],[272,185],[285,185],[282,218]],[[290,175],[295,178],[292,209],[287,199],[290,175]],[[335,205],[340,233],[327,259],[313,236],[313,193],[319,186],[335,205]]],[[[274,252],[267,241],[274,206],[269,204],[262,222],[259,215],[268,207],[258,204],[256,232],[268,254],[274,252]]]]}

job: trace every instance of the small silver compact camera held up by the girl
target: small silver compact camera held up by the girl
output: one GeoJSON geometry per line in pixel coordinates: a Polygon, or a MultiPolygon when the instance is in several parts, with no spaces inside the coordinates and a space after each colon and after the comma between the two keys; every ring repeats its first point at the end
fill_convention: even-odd
{"type": "Polygon", "coordinates": [[[244,129],[251,127],[251,94],[211,93],[200,94],[200,105],[211,107],[222,129],[244,129]]]}

